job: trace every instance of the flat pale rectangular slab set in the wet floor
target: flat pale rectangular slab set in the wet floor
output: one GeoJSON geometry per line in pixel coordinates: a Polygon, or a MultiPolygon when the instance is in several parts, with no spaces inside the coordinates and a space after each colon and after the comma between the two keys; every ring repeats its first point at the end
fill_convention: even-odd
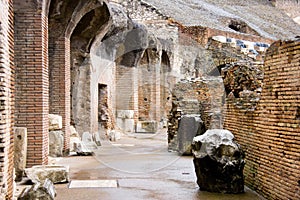
{"type": "Polygon", "coordinates": [[[116,188],[118,187],[117,180],[72,180],[69,188],[100,188],[100,187],[109,187],[116,188]]]}

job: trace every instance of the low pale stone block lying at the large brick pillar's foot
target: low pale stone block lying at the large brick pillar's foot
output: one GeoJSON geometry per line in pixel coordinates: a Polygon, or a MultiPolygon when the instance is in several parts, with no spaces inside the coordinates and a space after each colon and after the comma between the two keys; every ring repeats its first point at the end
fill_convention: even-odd
{"type": "Polygon", "coordinates": [[[33,183],[43,183],[46,179],[53,183],[69,182],[69,166],[36,165],[25,169],[25,173],[33,183]]]}

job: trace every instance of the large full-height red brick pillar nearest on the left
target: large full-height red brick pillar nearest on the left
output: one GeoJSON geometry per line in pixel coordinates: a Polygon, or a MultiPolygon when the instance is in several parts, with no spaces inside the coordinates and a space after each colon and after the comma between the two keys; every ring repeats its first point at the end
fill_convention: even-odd
{"type": "MultiPolygon", "coordinates": [[[[48,19],[15,1],[16,126],[28,130],[27,166],[48,163],[48,19]]],[[[25,4],[25,5],[23,5],[25,4]]]]}

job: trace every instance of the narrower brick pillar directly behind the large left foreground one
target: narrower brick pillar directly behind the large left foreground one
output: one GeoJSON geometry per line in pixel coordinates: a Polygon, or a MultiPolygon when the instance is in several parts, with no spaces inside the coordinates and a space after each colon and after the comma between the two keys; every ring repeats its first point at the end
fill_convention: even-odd
{"type": "MultiPolygon", "coordinates": [[[[50,33],[51,34],[51,33],[50,33]]],[[[62,116],[64,152],[70,150],[70,39],[66,37],[49,40],[50,113],[62,116]]]]}

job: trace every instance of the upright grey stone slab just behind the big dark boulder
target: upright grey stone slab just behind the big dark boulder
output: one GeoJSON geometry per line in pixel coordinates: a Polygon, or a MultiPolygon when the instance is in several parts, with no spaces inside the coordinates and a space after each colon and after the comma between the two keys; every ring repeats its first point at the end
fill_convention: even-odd
{"type": "Polygon", "coordinates": [[[193,138],[205,132],[205,126],[199,115],[182,116],[178,128],[178,151],[184,155],[192,154],[193,138]]]}

